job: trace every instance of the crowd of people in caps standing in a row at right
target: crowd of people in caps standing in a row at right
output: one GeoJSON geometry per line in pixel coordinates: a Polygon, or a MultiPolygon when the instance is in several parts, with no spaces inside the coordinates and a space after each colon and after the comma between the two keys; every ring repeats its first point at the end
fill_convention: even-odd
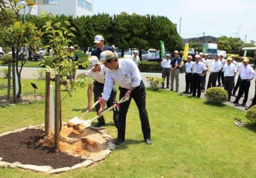
{"type": "MultiPolygon", "coordinates": [[[[238,104],[241,96],[244,94],[243,103],[241,105],[246,105],[248,100],[248,93],[250,88],[250,81],[256,77],[256,72],[249,65],[248,58],[242,58],[242,61],[238,64],[235,60],[235,56],[231,55],[224,59],[223,55],[216,54],[215,59],[209,68],[208,54],[199,53],[194,57],[191,55],[187,56],[187,62],[183,63],[185,66],[186,74],[186,89],[183,93],[191,94],[193,97],[200,97],[201,92],[205,91],[206,85],[206,74],[209,71],[209,79],[207,83],[207,89],[211,87],[222,86],[228,93],[228,101],[231,100],[231,96],[235,95],[238,91],[238,95],[232,103],[238,104]],[[204,56],[204,58],[203,58],[204,56]],[[239,72],[237,84],[235,86],[235,76],[239,72]],[[234,90],[233,90],[234,89],[234,90]],[[233,90],[233,93],[232,93],[233,90]]],[[[173,69],[179,69],[181,67],[181,58],[178,55],[178,51],[174,52],[174,57],[170,60],[170,55],[167,54],[166,58],[161,62],[162,66],[162,78],[166,78],[166,84],[169,88],[169,78],[171,78],[171,91],[173,91],[173,80],[176,80],[176,91],[178,92],[179,80],[177,73],[173,72],[173,69]],[[173,76],[173,77],[172,77],[173,76]]],[[[162,88],[164,88],[164,83],[162,83],[162,88]]],[[[256,95],[256,91],[255,91],[256,95]]],[[[254,97],[255,98],[255,97],[254,97]]],[[[251,106],[250,106],[251,107],[251,106]]]]}

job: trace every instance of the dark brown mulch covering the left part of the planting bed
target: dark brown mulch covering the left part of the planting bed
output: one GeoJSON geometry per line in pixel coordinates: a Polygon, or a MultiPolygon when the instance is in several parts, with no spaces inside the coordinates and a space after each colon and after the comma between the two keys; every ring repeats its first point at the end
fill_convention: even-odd
{"type": "Polygon", "coordinates": [[[82,163],[86,159],[73,157],[54,149],[37,145],[44,138],[42,129],[26,129],[0,137],[0,157],[2,161],[38,166],[51,166],[53,169],[71,167],[82,163]]]}

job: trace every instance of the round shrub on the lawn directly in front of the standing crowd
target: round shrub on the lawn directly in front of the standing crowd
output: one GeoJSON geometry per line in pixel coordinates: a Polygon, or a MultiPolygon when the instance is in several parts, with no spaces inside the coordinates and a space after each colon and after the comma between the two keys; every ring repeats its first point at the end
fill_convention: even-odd
{"type": "Polygon", "coordinates": [[[209,103],[218,105],[228,99],[228,92],[220,87],[212,87],[206,90],[204,98],[209,103]]]}

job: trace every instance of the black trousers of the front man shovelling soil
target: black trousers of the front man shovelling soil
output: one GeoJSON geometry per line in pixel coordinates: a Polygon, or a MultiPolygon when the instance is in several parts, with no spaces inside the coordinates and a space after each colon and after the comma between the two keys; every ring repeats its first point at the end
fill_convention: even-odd
{"type": "MultiPolygon", "coordinates": [[[[119,87],[120,95],[119,99],[125,96],[128,89],[119,87]]],[[[146,110],[146,91],[143,81],[136,87],[130,94],[130,100],[123,102],[119,105],[119,114],[117,120],[117,138],[125,139],[125,126],[126,126],[126,114],[128,112],[131,99],[133,99],[139,110],[139,118],[141,120],[141,129],[143,133],[144,140],[150,139],[150,125],[146,110]]]]}

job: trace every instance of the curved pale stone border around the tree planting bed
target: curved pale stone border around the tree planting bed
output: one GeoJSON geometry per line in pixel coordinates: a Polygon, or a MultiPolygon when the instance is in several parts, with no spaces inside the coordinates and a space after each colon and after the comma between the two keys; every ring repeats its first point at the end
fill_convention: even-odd
{"type": "MultiPolygon", "coordinates": [[[[62,126],[66,126],[66,125],[67,125],[67,123],[62,123],[62,126]]],[[[34,129],[42,129],[42,128],[44,128],[44,124],[36,125],[36,126],[28,126],[28,127],[24,127],[24,128],[20,128],[20,129],[15,129],[13,131],[8,131],[8,132],[0,134],[0,137],[5,136],[10,133],[21,132],[21,131],[24,131],[25,129],[33,129],[33,128],[34,129]]],[[[63,168],[58,168],[58,169],[53,169],[50,166],[37,166],[37,165],[21,164],[20,162],[8,163],[5,161],[2,161],[2,157],[0,157],[0,167],[21,168],[24,170],[31,170],[34,172],[44,172],[44,173],[49,173],[49,174],[57,174],[57,173],[62,173],[62,172],[66,172],[69,170],[88,167],[89,165],[92,165],[95,162],[104,160],[106,158],[106,156],[112,152],[112,150],[116,149],[116,145],[113,144],[113,139],[107,133],[107,129],[101,129],[99,127],[93,127],[93,126],[91,126],[90,128],[97,130],[98,133],[102,134],[103,138],[106,139],[106,141],[109,145],[108,149],[102,151],[96,157],[91,156],[84,162],[73,165],[72,167],[63,167],[63,168]]]]}

